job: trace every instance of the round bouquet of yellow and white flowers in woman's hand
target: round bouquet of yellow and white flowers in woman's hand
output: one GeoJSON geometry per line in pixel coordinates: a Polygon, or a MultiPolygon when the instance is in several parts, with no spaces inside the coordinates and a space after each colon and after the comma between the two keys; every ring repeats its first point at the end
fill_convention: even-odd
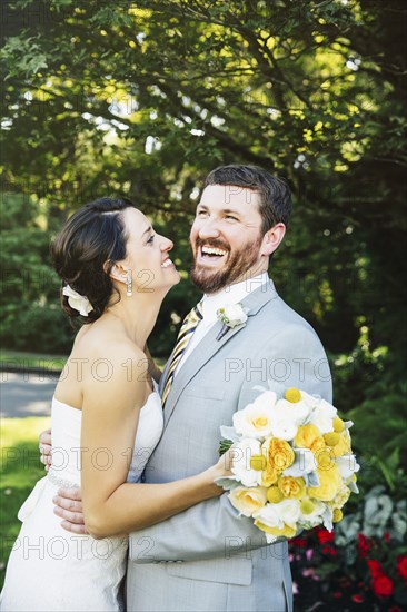
{"type": "Polygon", "coordinates": [[[319,524],[331,531],[350,492],[358,493],[351,425],[304,391],[289,388],[279,399],[264,391],[234,414],[232,427],[220,428],[220,453],[232,447],[234,458],[232,476],[218,484],[269,543],[319,524]]]}

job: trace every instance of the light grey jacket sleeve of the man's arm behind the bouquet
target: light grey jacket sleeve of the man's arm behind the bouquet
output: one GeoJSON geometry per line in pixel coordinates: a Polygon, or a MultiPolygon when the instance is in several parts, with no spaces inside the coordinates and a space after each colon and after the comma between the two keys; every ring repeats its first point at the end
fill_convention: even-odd
{"type": "MultiPolygon", "coordinates": [[[[331,402],[331,379],[324,348],[311,328],[294,325],[279,333],[271,343],[278,349],[259,347],[252,359],[250,377],[246,376],[237,409],[242,409],[258,394],[256,385],[266,386],[264,359],[267,361],[267,381],[281,393],[296,386],[318,394],[331,402]],[[287,355],[291,355],[290,358],[287,355]],[[258,367],[257,367],[258,366],[258,367]]],[[[284,539],[272,544],[281,554],[284,539]]],[[[265,534],[252,519],[239,516],[227,494],[202,502],[189,510],[131,534],[130,559],[136,563],[198,561],[228,557],[266,546],[265,534]]],[[[274,553],[272,553],[274,554],[274,553]]]]}

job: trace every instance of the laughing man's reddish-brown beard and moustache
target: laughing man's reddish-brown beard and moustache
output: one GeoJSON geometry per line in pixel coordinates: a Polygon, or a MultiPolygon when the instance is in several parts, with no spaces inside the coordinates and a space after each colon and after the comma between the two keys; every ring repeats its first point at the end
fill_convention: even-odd
{"type": "Polygon", "coordinates": [[[232,285],[239,278],[245,276],[254,264],[257,261],[259,255],[259,248],[261,244],[261,236],[252,243],[249,247],[241,248],[240,250],[235,250],[235,253],[229,251],[229,248],[221,240],[197,240],[196,248],[202,245],[208,245],[215,248],[222,248],[229,251],[228,261],[219,270],[211,270],[197,266],[196,258],[193,257],[193,263],[190,272],[190,278],[192,283],[205,294],[215,294],[232,285]]]}

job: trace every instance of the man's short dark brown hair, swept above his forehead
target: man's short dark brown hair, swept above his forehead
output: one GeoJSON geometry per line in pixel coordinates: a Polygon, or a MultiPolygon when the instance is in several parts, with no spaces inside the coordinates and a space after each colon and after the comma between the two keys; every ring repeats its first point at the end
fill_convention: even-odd
{"type": "Polygon", "coordinates": [[[284,180],[264,168],[241,164],[219,166],[207,176],[205,187],[208,185],[235,185],[258,193],[262,235],[278,223],[288,226],[292,209],[291,193],[284,180]]]}

